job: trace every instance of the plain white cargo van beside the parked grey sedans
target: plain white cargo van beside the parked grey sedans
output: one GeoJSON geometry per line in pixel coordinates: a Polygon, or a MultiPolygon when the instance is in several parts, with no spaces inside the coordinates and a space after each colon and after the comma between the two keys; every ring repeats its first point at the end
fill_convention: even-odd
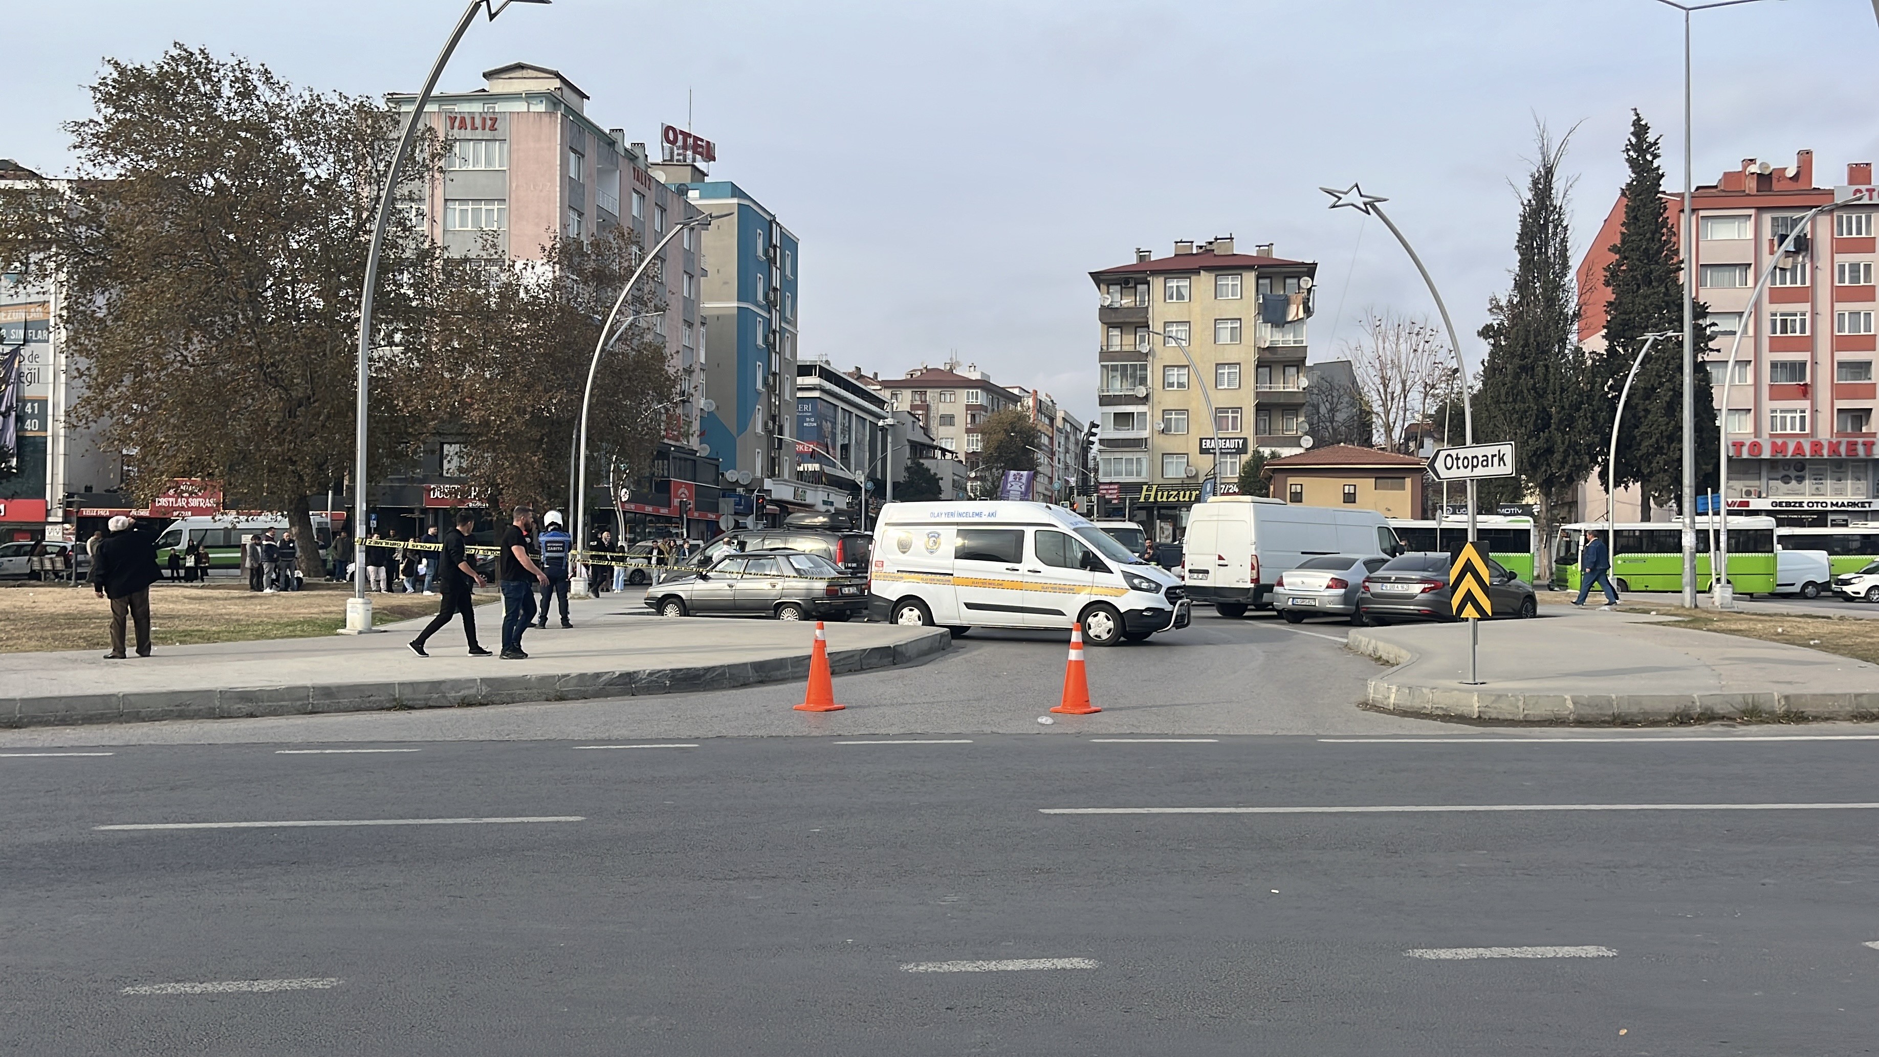
{"type": "Polygon", "coordinates": [[[1402,554],[1383,514],[1295,507],[1257,496],[1214,496],[1188,513],[1188,597],[1219,616],[1272,603],[1272,582],[1321,554],[1402,554]]]}

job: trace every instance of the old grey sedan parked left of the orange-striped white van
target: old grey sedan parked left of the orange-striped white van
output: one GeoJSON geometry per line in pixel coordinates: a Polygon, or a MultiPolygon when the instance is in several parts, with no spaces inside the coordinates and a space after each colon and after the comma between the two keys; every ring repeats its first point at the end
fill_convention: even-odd
{"type": "Polygon", "coordinates": [[[868,612],[868,580],[800,550],[744,550],[676,573],[646,591],[660,616],[849,620],[868,612]]]}

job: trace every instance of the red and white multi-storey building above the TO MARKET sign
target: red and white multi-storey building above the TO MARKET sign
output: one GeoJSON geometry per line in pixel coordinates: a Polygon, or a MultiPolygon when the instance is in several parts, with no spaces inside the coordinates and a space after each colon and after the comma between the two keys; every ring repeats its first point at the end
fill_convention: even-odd
{"type": "MultiPolygon", "coordinates": [[[[1847,184],[1870,186],[1871,163],[1847,165],[1847,184]]],[[[1691,195],[1697,299],[1710,310],[1719,338],[1700,351],[1716,391],[1729,441],[1727,501],[1731,511],[1774,514],[1783,524],[1830,526],[1870,520],[1879,511],[1879,451],[1873,407],[1873,270],[1875,212],[1838,208],[1813,220],[1806,250],[1776,263],[1753,315],[1749,295],[1770,257],[1813,207],[1834,201],[1832,188],[1813,186],[1813,152],[1793,165],[1746,160],[1716,184],[1691,195]],[[1729,349],[1742,334],[1729,407],[1721,407],[1729,349]]],[[[1682,199],[1667,195],[1672,223],[1682,199]]],[[[1578,268],[1580,340],[1603,344],[1605,265],[1618,240],[1623,199],[1612,207],[1592,252],[1578,268]]],[[[1674,344],[1674,342],[1672,342],[1674,344]]],[[[1659,353],[1652,353],[1659,355],[1659,353]]],[[[1676,355],[1667,351],[1661,355],[1676,355]]],[[[1603,492],[1588,484],[1584,511],[1597,514],[1603,492]]],[[[1620,516],[1635,516],[1620,492],[1620,516]]]]}

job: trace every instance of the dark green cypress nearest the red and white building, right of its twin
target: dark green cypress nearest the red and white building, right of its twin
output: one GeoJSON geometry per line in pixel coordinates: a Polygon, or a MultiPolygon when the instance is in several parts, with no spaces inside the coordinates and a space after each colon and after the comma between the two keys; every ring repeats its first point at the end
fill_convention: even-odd
{"type": "MultiPolygon", "coordinates": [[[[1605,265],[1605,392],[1608,407],[1616,409],[1625,374],[1644,347],[1644,334],[1684,330],[1684,278],[1678,253],[1676,223],[1663,197],[1663,165],[1659,137],[1650,133],[1644,118],[1631,111],[1631,137],[1625,141],[1625,214],[1618,242],[1610,246],[1612,261],[1605,265]]],[[[1693,306],[1697,340],[1706,340],[1704,304],[1693,306]]],[[[1684,490],[1684,349],[1680,338],[1659,338],[1650,357],[1638,364],[1625,417],[1618,424],[1618,481],[1642,484],[1655,503],[1669,503],[1684,490]]],[[[1699,362],[1700,368],[1700,362],[1699,362]]],[[[1710,375],[1695,375],[1697,479],[1716,475],[1717,424],[1708,413],[1716,406],[1710,396],[1710,375]]],[[[1610,409],[1605,415],[1601,437],[1610,436],[1610,409]]],[[[1601,456],[1605,452],[1601,451],[1601,456]]],[[[1599,460],[1601,464],[1605,458],[1599,460]]]]}

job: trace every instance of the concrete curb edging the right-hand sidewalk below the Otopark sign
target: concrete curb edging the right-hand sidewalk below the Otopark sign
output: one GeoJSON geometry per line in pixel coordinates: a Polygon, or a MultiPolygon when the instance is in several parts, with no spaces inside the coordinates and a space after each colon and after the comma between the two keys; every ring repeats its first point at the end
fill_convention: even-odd
{"type": "Polygon", "coordinates": [[[1783,721],[1879,719],[1879,689],[1866,693],[1689,693],[1689,695],[1552,695],[1445,687],[1411,682],[1415,650],[1353,631],[1349,650],[1396,665],[1368,682],[1366,700],[1379,712],[1432,719],[1479,719],[1535,725],[1682,725],[1717,719],[1783,721]]]}

